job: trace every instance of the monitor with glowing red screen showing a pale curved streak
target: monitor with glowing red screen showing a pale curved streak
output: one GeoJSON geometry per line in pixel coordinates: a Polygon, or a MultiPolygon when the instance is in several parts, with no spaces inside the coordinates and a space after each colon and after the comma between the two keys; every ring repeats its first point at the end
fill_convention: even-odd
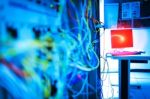
{"type": "Polygon", "coordinates": [[[112,48],[133,47],[132,29],[111,30],[111,47],[112,48]]]}

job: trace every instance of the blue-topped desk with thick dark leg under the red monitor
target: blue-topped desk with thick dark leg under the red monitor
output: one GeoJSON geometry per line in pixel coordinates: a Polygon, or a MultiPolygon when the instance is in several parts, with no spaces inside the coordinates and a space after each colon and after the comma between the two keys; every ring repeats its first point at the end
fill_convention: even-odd
{"type": "Polygon", "coordinates": [[[119,99],[129,99],[130,63],[146,63],[150,56],[109,56],[119,60],[119,99]]]}

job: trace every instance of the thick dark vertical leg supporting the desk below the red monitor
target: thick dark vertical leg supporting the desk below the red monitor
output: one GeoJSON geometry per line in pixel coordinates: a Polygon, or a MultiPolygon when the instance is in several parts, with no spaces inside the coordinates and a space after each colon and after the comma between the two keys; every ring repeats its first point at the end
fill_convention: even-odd
{"type": "Polygon", "coordinates": [[[119,99],[129,99],[129,65],[129,60],[119,60],[119,99]]]}

